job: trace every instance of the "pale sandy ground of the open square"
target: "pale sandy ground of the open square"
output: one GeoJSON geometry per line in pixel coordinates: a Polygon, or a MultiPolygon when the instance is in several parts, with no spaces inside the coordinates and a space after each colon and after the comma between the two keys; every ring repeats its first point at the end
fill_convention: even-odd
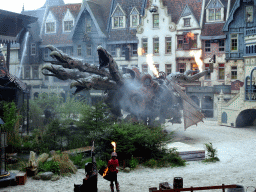
{"type": "MultiPolygon", "coordinates": [[[[202,187],[211,185],[238,184],[256,187],[256,127],[231,128],[217,126],[216,121],[205,120],[198,126],[184,131],[183,124],[166,124],[168,131],[175,131],[175,140],[195,147],[204,147],[212,142],[218,150],[220,159],[217,163],[187,162],[186,167],[150,169],[140,167],[130,173],[119,172],[118,181],[121,192],[148,192],[149,187],[158,187],[160,182],[173,183],[174,177],[183,177],[183,187],[202,187]]],[[[24,186],[13,186],[0,189],[0,192],[71,192],[74,183],[81,184],[84,170],[64,177],[58,181],[37,181],[28,178],[24,186]]],[[[110,192],[109,182],[100,175],[98,191],[110,192]]],[[[211,190],[214,191],[214,190],[211,190]]],[[[215,190],[221,191],[221,190],[215,190]]],[[[247,191],[254,191],[248,188],[247,191]]]]}

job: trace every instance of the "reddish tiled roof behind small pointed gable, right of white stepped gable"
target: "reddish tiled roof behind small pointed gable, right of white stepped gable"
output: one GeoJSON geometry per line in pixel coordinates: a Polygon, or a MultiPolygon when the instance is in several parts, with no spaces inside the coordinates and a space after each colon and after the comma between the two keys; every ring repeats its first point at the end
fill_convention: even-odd
{"type": "Polygon", "coordinates": [[[179,21],[181,14],[186,6],[188,6],[195,16],[195,19],[200,23],[202,1],[198,0],[163,0],[163,5],[167,6],[168,14],[172,17],[172,22],[179,21]]]}

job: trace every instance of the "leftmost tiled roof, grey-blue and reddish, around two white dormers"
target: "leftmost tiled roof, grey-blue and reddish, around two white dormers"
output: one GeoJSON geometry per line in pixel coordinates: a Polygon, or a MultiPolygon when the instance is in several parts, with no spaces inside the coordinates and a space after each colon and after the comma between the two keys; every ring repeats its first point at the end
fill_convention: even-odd
{"type": "MultiPolygon", "coordinates": [[[[81,3],[79,4],[66,4],[62,6],[53,6],[49,8],[49,11],[54,15],[54,18],[56,19],[56,33],[55,34],[45,34],[43,32],[42,35],[42,44],[41,45],[48,45],[48,44],[71,44],[72,38],[70,38],[69,33],[63,33],[62,29],[62,21],[63,18],[69,9],[71,14],[76,19],[78,16],[78,13],[81,8],[81,3]]],[[[49,13],[48,11],[48,13],[49,13]]],[[[47,14],[48,14],[47,13],[47,14]]],[[[43,28],[45,26],[43,25],[43,28]]]]}

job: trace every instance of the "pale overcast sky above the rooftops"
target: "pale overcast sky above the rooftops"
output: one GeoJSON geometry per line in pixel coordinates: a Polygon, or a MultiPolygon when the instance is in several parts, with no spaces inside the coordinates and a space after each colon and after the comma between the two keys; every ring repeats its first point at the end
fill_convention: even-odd
{"type": "MultiPolygon", "coordinates": [[[[42,7],[46,0],[1,0],[0,9],[20,13],[24,4],[25,10],[34,10],[42,7]]],[[[82,0],[64,0],[66,4],[81,3],[82,0]]]]}

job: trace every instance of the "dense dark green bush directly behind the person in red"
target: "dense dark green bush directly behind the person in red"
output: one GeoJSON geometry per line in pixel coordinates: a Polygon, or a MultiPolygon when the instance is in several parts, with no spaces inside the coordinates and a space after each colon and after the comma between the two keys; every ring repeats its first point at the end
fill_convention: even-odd
{"type": "Polygon", "coordinates": [[[90,140],[95,138],[97,153],[104,154],[107,159],[113,147],[111,141],[117,143],[119,160],[143,157],[148,160],[157,159],[161,154],[163,143],[171,138],[171,134],[165,134],[161,127],[149,128],[142,124],[116,123],[103,131],[92,131],[88,136],[90,140]]]}

